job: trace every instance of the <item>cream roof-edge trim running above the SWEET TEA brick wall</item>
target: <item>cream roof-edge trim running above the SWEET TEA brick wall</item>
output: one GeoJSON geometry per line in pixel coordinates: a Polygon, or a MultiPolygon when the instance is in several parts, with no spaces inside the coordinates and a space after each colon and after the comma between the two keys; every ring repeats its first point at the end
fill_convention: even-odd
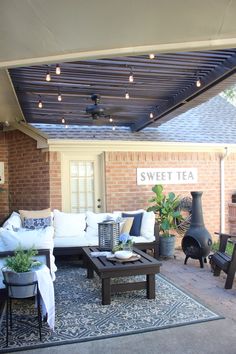
{"type": "MultiPolygon", "coordinates": [[[[200,144],[180,142],[120,141],[120,140],[60,140],[48,139],[49,151],[142,151],[142,152],[218,152],[225,151],[226,144],[200,144]]],[[[227,144],[230,152],[236,152],[236,144],[227,144]]]]}

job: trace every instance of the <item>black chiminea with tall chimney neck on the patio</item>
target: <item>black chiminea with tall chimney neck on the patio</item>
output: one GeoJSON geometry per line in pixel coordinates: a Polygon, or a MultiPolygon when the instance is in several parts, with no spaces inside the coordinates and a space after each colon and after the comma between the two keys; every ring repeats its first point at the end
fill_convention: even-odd
{"type": "Polygon", "coordinates": [[[198,259],[203,268],[203,261],[207,263],[206,257],[211,250],[212,238],[203,221],[202,192],[191,192],[191,195],[193,199],[191,223],[182,239],[182,249],[186,255],[184,264],[188,258],[198,259]]]}

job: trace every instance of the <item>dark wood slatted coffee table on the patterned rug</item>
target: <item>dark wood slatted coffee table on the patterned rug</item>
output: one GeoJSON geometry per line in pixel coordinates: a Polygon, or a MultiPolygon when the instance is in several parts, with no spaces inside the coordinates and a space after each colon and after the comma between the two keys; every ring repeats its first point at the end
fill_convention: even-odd
{"type": "Polygon", "coordinates": [[[109,261],[106,257],[92,257],[91,252],[99,252],[97,247],[82,247],[87,277],[93,278],[94,271],[102,279],[102,304],[110,305],[111,295],[117,292],[146,289],[147,298],[155,299],[155,274],[160,272],[161,263],[143,251],[134,248],[140,259],[132,262],[109,261]],[[111,284],[112,278],[146,275],[146,281],[111,284]]]}

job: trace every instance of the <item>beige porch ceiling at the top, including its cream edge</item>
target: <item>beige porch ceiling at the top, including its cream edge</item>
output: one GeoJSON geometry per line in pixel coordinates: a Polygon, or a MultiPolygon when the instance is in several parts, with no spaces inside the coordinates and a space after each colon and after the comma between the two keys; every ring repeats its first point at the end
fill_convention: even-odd
{"type": "Polygon", "coordinates": [[[1,0],[0,121],[21,118],[9,67],[236,47],[233,0],[1,0]]]}

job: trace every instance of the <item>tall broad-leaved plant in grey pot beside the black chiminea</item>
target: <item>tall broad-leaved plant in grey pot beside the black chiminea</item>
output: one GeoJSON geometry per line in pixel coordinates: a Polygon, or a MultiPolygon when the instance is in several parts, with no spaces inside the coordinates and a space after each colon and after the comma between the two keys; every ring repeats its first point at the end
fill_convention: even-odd
{"type": "Polygon", "coordinates": [[[179,209],[180,198],[173,192],[164,194],[163,186],[160,184],[155,185],[152,191],[155,196],[149,202],[153,205],[147,211],[153,211],[156,214],[160,231],[161,256],[171,257],[175,250],[175,235],[172,231],[176,230],[178,222],[183,219],[179,209]]]}

